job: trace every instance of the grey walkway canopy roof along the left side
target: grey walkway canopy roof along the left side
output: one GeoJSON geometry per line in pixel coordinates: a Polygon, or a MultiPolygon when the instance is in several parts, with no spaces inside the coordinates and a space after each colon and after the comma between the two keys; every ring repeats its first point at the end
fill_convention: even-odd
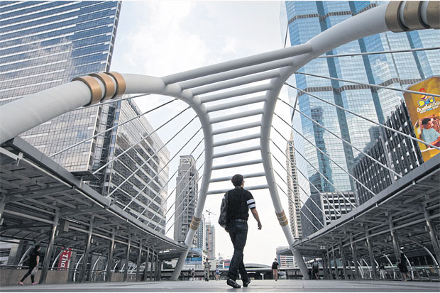
{"type": "MultiPolygon", "coordinates": [[[[160,260],[178,258],[187,245],[167,238],[111,205],[89,187],[87,174],[68,172],[25,140],[16,137],[0,148],[2,197],[1,240],[47,242],[59,219],[54,245],[84,250],[92,221],[91,252],[107,255],[109,241],[150,250],[160,260]]],[[[191,255],[197,255],[190,250],[191,255]]],[[[125,256],[125,255],[124,255],[125,256]]],[[[116,257],[116,255],[115,255],[116,257]]],[[[132,254],[136,262],[137,254],[132,254]]]]}

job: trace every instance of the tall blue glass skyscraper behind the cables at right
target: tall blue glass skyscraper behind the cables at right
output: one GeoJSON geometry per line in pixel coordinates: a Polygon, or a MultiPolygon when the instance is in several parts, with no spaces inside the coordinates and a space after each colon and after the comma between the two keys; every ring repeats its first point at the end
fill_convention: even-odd
{"type": "MultiPolygon", "coordinates": [[[[385,2],[286,1],[285,5],[282,5],[284,13],[281,13],[280,23],[285,23],[288,27],[290,45],[299,45],[306,43],[307,40],[331,26],[383,3],[385,2]]],[[[286,25],[281,28],[284,32],[286,32],[286,25]]],[[[439,39],[438,30],[387,32],[355,40],[326,52],[326,55],[428,48],[436,45],[439,39]]],[[[440,55],[436,50],[422,50],[318,58],[304,65],[298,72],[401,89],[421,79],[439,74],[440,55]]],[[[295,74],[295,82],[299,89],[380,123],[385,123],[387,116],[390,116],[395,106],[402,100],[402,93],[390,89],[377,89],[367,85],[311,77],[300,73],[295,74]]],[[[303,92],[289,91],[289,93],[292,105],[297,101],[297,106],[302,113],[356,148],[362,150],[369,143],[365,139],[365,133],[368,137],[369,128],[375,126],[373,123],[336,109],[303,92]]],[[[312,182],[307,187],[310,193],[318,192],[315,187],[319,192],[335,192],[336,189],[341,192],[354,191],[354,180],[347,173],[351,174],[358,151],[351,148],[351,145],[342,143],[339,138],[299,112],[295,112],[292,125],[310,142],[301,138],[298,133],[294,133],[295,148],[300,150],[309,161],[304,162],[297,152],[297,162],[304,162],[304,164],[299,164],[298,170],[308,175],[309,181],[312,182]],[[331,160],[326,157],[327,155],[331,160]]],[[[304,221],[306,220],[303,219],[303,226],[304,221]]]]}

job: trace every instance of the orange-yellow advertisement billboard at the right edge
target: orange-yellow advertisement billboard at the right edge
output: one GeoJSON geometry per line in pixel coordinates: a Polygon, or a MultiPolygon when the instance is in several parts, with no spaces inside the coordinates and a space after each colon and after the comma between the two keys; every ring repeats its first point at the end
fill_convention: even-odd
{"type": "MultiPolygon", "coordinates": [[[[416,137],[426,143],[440,147],[440,98],[429,95],[440,94],[440,76],[417,82],[408,89],[427,93],[422,95],[406,92],[403,94],[416,137]]],[[[424,143],[419,143],[419,148],[424,162],[440,153],[440,150],[424,143]]]]}

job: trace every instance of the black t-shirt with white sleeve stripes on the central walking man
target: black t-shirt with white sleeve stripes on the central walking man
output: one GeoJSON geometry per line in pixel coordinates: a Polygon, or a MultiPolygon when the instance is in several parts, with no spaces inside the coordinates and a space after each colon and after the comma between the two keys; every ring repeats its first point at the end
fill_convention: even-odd
{"type": "Polygon", "coordinates": [[[247,220],[249,218],[248,209],[255,209],[255,199],[251,192],[243,187],[236,187],[228,192],[228,219],[230,222],[237,219],[247,220]]]}

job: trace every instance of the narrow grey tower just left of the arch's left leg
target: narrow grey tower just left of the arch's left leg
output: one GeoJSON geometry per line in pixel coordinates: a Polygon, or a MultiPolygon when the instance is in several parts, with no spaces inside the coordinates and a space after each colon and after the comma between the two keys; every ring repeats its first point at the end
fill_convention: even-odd
{"type": "MultiPolygon", "coordinates": [[[[199,172],[197,172],[196,161],[192,155],[181,155],[179,170],[177,171],[177,188],[175,202],[175,226],[174,240],[185,242],[189,225],[194,215],[197,205],[197,194],[199,187],[197,180],[199,172]]],[[[194,246],[197,245],[197,235],[193,239],[194,246]]]]}

